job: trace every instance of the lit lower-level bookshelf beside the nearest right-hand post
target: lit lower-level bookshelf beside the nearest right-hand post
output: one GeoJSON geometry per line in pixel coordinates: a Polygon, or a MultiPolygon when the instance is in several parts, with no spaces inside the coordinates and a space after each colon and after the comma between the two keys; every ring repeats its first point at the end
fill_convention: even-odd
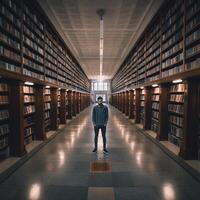
{"type": "Polygon", "coordinates": [[[169,133],[168,140],[181,146],[183,140],[183,123],[184,123],[184,94],[186,84],[174,84],[170,87],[169,95],[169,133]]]}

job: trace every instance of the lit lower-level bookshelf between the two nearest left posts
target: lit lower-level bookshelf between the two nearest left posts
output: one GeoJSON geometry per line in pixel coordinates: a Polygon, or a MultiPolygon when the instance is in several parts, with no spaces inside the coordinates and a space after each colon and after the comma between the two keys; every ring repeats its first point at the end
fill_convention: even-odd
{"type": "Polygon", "coordinates": [[[24,142],[25,145],[35,139],[35,90],[33,86],[24,84],[24,142]]]}

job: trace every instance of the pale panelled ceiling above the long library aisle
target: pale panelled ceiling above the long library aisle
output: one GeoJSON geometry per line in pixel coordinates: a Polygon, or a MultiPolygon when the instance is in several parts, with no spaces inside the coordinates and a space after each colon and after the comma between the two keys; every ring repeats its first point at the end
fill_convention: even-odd
{"type": "Polygon", "coordinates": [[[89,79],[98,79],[99,16],[104,15],[103,78],[111,79],[163,0],[39,0],[89,79]]]}

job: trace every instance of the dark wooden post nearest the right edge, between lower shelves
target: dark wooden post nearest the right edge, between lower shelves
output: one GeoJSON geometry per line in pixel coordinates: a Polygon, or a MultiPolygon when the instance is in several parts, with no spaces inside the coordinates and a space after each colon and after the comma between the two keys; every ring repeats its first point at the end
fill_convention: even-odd
{"type": "Polygon", "coordinates": [[[198,158],[198,129],[200,115],[199,107],[200,83],[197,79],[188,79],[187,91],[185,92],[185,109],[183,123],[183,142],[180,146],[179,155],[188,160],[198,158]]]}

